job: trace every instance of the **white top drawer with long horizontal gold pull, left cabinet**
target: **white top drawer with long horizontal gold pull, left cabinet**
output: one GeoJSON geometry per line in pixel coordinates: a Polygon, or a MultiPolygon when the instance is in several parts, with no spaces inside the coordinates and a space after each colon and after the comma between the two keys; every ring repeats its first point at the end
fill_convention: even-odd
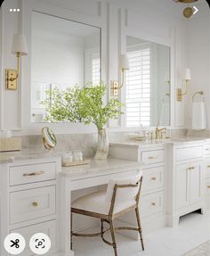
{"type": "Polygon", "coordinates": [[[55,162],[14,166],[10,168],[10,186],[55,179],[55,162]]]}

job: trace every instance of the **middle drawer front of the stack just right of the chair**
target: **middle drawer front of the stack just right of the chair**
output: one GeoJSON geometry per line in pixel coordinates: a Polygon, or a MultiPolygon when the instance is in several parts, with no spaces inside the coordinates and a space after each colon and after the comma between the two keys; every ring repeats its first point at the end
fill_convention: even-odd
{"type": "Polygon", "coordinates": [[[164,186],[164,166],[143,169],[142,192],[164,186]]]}

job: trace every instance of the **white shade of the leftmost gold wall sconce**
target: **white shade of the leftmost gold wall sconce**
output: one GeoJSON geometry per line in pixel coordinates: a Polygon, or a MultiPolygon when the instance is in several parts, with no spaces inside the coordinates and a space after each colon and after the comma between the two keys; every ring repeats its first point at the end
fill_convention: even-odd
{"type": "Polygon", "coordinates": [[[28,55],[26,37],[22,34],[14,34],[12,42],[12,54],[28,55]]]}

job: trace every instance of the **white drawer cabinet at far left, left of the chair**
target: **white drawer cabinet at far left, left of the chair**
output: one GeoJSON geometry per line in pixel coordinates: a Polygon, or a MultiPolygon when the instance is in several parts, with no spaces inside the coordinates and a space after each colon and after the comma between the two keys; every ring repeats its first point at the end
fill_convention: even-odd
{"type": "MultiPolygon", "coordinates": [[[[9,233],[26,239],[23,256],[34,255],[29,239],[36,233],[49,235],[56,251],[58,240],[58,172],[60,158],[40,158],[1,164],[1,244],[9,233]]],[[[1,256],[8,256],[1,246],[1,256]]]]}

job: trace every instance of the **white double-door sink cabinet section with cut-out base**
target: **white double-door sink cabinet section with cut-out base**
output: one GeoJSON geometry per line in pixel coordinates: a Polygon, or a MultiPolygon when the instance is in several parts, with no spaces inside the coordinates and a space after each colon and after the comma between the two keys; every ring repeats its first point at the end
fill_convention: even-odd
{"type": "Polygon", "coordinates": [[[204,144],[167,145],[168,225],[176,226],[182,215],[204,211],[204,144]]]}

